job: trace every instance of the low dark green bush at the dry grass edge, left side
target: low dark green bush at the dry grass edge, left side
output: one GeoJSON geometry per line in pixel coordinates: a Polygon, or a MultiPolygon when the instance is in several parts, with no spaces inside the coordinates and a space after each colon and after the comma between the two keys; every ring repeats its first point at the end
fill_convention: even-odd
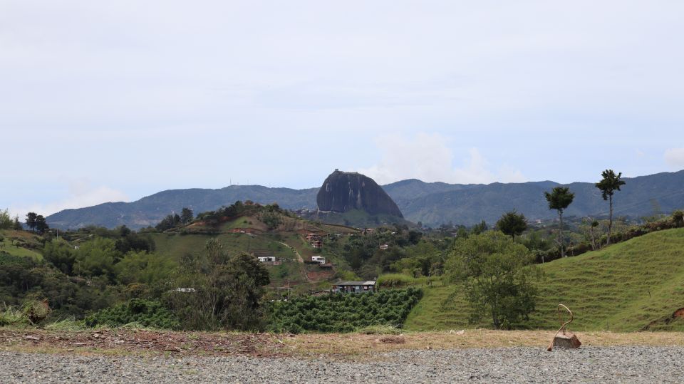
{"type": "Polygon", "coordinates": [[[146,328],[177,329],[180,321],[158,301],[131,299],[127,303],[105,308],[86,317],[86,326],[124,326],[138,323],[146,328]]]}

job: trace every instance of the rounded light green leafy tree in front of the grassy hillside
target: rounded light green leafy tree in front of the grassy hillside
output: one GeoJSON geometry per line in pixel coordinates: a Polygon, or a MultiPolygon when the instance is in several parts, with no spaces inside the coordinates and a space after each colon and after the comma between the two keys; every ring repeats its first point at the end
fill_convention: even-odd
{"type": "Polygon", "coordinates": [[[491,316],[494,328],[516,328],[534,311],[539,271],[529,266],[533,257],[522,244],[501,232],[485,232],[457,239],[445,271],[452,281],[464,284],[475,311],[471,323],[491,316]]]}

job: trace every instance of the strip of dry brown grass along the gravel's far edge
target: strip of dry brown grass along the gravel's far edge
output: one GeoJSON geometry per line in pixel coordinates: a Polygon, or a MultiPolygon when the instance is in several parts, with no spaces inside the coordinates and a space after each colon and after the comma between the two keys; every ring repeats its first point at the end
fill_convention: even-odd
{"type": "MultiPolygon", "coordinates": [[[[170,354],[179,347],[181,355],[249,355],[249,356],[328,356],[331,358],[368,358],[378,353],[400,349],[505,348],[529,346],[546,348],[553,331],[492,331],[486,329],[461,332],[409,332],[403,335],[366,335],[361,333],[328,333],[277,335],[259,333],[174,333],[167,331],[108,331],[126,343],[94,342],[92,331],[30,331],[0,328],[0,351],[43,353],[76,353],[87,355],[170,354]],[[26,339],[39,336],[40,341],[26,339]]],[[[579,332],[583,346],[684,346],[683,332],[579,332]]],[[[175,354],[176,352],[174,352],[175,354]]]]}

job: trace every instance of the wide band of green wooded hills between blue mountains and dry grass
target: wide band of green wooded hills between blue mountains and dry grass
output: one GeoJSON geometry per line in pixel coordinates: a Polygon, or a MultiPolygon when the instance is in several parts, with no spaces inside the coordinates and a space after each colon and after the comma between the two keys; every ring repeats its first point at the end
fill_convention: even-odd
{"type": "Polygon", "coordinates": [[[93,325],[185,330],[546,329],[557,326],[556,305],[565,303],[576,328],[684,329],[674,315],[684,307],[684,214],[633,225],[619,217],[612,224],[566,218],[563,209],[563,236],[545,224],[521,229],[524,217],[515,211],[497,223],[502,232],[484,221],[358,230],[252,202],[197,219],[184,210],[164,232],[88,227],[57,238],[0,229],[0,322],[36,323],[40,316],[31,321],[24,308],[41,309],[36,303],[49,299],[41,326],[69,328],[87,317],[93,325]],[[601,249],[611,227],[611,242],[619,244],[601,249]],[[574,257],[549,263],[564,251],[574,257]],[[301,262],[314,255],[328,265],[301,262]],[[544,264],[527,265],[535,259],[544,264]],[[309,296],[339,279],[376,277],[376,294],[309,296]],[[401,298],[393,289],[413,293],[401,298]],[[288,301],[277,300],[283,297],[288,301]]]}

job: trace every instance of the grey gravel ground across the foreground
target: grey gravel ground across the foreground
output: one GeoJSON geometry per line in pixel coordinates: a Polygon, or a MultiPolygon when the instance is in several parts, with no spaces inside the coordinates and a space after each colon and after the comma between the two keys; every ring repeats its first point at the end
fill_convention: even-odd
{"type": "Polygon", "coordinates": [[[361,361],[0,352],[1,383],[684,383],[684,347],[394,351],[361,361]]]}

